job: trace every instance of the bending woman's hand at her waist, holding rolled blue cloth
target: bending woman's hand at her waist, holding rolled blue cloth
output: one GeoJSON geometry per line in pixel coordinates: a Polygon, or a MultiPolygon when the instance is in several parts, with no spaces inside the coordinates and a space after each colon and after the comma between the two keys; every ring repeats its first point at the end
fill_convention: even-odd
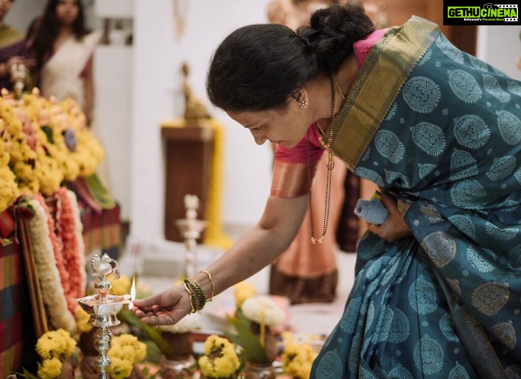
{"type": "Polygon", "coordinates": [[[382,225],[368,223],[367,228],[369,231],[389,242],[411,237],[413,233],[407,224],[405,224],[402,213],[398,209],[398,206],[396,206],[396,201],[386,193],[381,194],[380,200],[383,205],[386,206],[387,210],[389,211],[389,215],[382,225]]]}

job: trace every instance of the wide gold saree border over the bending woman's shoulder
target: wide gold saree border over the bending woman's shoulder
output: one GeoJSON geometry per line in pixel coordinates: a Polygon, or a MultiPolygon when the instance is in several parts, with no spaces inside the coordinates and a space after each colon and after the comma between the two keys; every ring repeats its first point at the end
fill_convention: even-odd
{"type": "Polygon", "coordinates": [[[437,24],[413,16],[401,27],[391,28],[369,51],[334,121],[333,152],[351,171],[439,34],[437,24]]]}

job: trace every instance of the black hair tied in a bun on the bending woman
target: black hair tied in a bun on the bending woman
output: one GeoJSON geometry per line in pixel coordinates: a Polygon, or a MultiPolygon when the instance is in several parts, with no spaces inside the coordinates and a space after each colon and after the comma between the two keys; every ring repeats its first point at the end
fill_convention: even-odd
{"type": "Polygon", "coordinates": [[[214,53],[208,97],[227,111],[286,109],[295,90],[320,74],[337,73],[353,44],[374,30],[364,8],[351,3],[316,11],[311,28],[297,33],[280,24],[239,28],[214,53]]]}

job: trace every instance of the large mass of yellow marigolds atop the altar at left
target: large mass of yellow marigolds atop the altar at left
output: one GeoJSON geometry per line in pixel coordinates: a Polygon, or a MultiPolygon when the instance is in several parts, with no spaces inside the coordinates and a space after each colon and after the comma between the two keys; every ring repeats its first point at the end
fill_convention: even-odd
{"type": "Polygon", "coordinates": [[[0,120],[0,212],[20,193],[52,195],[64,180],[92,175],[104,158],[100,142],[72,99],[49,101],[35,89],[17,102],[4,91],[0,120]],[[65,130],[76,139],[75,151],[67,148],[65,130]]]}

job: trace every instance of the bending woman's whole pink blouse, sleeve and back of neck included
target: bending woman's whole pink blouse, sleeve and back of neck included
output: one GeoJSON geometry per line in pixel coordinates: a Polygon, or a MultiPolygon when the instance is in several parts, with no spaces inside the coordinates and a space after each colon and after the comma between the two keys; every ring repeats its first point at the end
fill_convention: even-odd
{"type": "MultiPolygon", "coordinates": [[[[382,39],[388,29],[375,30],[369,33],[363,40],[353,44],[358,68],[364,63],[370,49],[382,39]]],[[[308,192],[307,183],[307,147],[306,136],[293,148],[285,148],[277,145],[275,149],[275,163],[273,168],[273,181],[271,195],[292,198],[299,197],[308,192]]],[[[316,124],[309,126],[309,158],[312,170],[316,168],[324,148],[320,143],[321,135],[316,124]]]]}

